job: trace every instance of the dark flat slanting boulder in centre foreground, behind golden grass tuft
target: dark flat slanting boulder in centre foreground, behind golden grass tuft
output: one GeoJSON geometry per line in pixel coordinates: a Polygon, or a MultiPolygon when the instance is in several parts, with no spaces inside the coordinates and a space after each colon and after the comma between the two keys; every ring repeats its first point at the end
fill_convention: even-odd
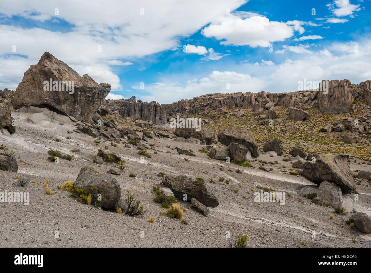
{"type": "Polygon", "coordinates": [[[162,183],[173,191],[177,198],[183,200],[184,194],[187,194],[187,201],[190,202],[192,198],[197,199],[206,207],[215,208],[219,205],[216,196],[207,191],[204,184],[193,178],[185,175],[166,175],[162,177],[162,183]]]}

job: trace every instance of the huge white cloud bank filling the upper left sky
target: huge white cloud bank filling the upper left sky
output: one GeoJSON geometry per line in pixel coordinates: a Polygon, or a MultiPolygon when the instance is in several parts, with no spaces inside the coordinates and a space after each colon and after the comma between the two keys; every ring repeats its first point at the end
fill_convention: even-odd
{"type": "Polygon", "coordinates": [[[53,32],[42,29],[43,24],[32,28],[1,24],[0,56],[10,54],[9,58],[4,58],[12,59],[8,63],[20,62],[22,65],[14,66],[12,72],[7,72],[8,68],[1,62],[0,83],[4,85],[0,85],[0,88],[18,85],[28,67],[36,64],[47,51],[80,75],[90,70],[89,68],[98,69],[98,72],[93,73],[95,75],[91,75],[91,72],[89,76],[97,82],[103,79],[106,83],[111,83],[113,90],[121,90],[118,76],[112,73],[112,68],[106,61],[143,57],[176,49],[180,46],[182,37],[190,36],[210,22],[225,20],[228,16],[220,11],[225,10],[226,6],[233,11],[245,2],[246,0],[112,0],[107,5],[104,1],[91,4],[91,1],[81,0],[76,5],[74,0],[45,3],[18,0],[16,4],[0,1],[3,19],[13,16],[39,22],[51,19],[65,21],[71,26],[68,32],[53,32]],[[59,9],[58,16],[54,14],[56,7],[59,9]],[[145,11],[143,16],[140,15],[141,9],[145,11]],[[27,58],[20,60],[15,56],[12,45],[17,47],[16,54],[27,58]],[[98,46],[101,46],[102,52],[98,52],[98,46]],[[5,78],[4,75],[13,73],[19,76],[14,79],[15,82],[9,82],[12,77],[5,78]]]}

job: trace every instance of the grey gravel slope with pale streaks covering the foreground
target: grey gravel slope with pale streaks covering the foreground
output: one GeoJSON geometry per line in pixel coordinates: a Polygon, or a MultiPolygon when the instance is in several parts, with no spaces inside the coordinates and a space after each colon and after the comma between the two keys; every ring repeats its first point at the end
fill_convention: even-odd
{"type": "MultiPolygon", "coordinates": [[[[272,166],[274,171],[265,172],[210,159],[198,151],[202,145],[152,138],[147,144],[154,144],[158,154],[149,150],[152,158],[145,158],[145,162],[141,163],[137,147],[125,148],[124,144],[113,147],[109,145],[111,141],[96,145],[88,135],[68,134],[67,130],[73,131],[75,127],[64,116],[58,115],[58,120],[49,121],[45,116],[30,115],[13,112],[12,116],[17,120],[16,134],[0,132],[0,144],[16,152],[19,164],[17,174],[40,183],[17,187],[16,173],[0,170],[0,191],[30,193],[29,205],[0,203],[0,247],[226,247],[227,234],[235,238],[240,233],[248,234],[248,247],[303,247],[301,241],[308,247],[371,246],[370,234],[362,234],[345,223],[351,214],[335,215],[332,208],[312,204],[311,200],[298,194],[300,187],[313,184],[303,177],[276,171],[277,167],[291,167],[282,156],[260,155],[259,160],[277,160],[279,163],[272,166]],[[55,138],[59,138],[60,142],[56,142],[55,138]],[[141,199],[147,211],[144,216],[103,211],[93,205],[82,204],[70,197],[68,192],[56,188],[57,184],[75,181],[82,167],[95,167],[102,172],[112,168],[110,164],[97,165],[92,161],[98,148],[105,146],[122,156],[128,164],[120,176],[112,177],[119,182],[123,195],[131,190],[135,198],[141,199]],[[177,154],[175,146],[191,149],[196,157],[177,154]],[[70,151],[75,148],[80,151],[70,151]],[[59,164],[54,164],[47,160],[49,149],[73,154],[74,158],[72,161],[60,159],[59,164]],[[185,161],[184,157],[189,161],[185,161]],[[237,168],[243,171],[237,173],[237,168]],[[217,196],[220,205],[210,208],[210,214],[203,216],[190,203],[179,201],[187,208],[184,219],[188,225],[162,216],[159,211],[164,208],[153,201],[154,194],[151,193],[152,185],[164,188],[160,185],[161,177],[157,175],[160,171],[204,178],[206,188],[217,196]],[[130,173],[137,177],[129,177],[130,173]],[[229,184],[218,181],[219,177],[229,180],[229,184]],[[54,195],[45,194],[42,184],[47,178],[49,187],[55,191],[54,195]],[[216,183],[209,183],[209,178],[216,183]],[[255,202],[253,190],[258,191],[257,185],[285,191],[286,204],[255,202]],[[329,218],[330,214],[334,214],[333,219],[329,218]],[[150,215],[155,218],[153,224],[147,221],[150,215]],[[56,233],[59,234],[58,239],[56,233]]],[[[253,165],[258,167],[257,162],[253,165]]],[[[265,167],[269,169],[270,164],[265,167]]],[[[351,164],[352,170],[369,170],[367,167],[351,164]]],[[[358,205],[364,212],[370,213],[371,187],[362,184],[357,185],[360,193],[358,205]]],[[[164,189],[170,193],[169,189],[164,189]]]]}

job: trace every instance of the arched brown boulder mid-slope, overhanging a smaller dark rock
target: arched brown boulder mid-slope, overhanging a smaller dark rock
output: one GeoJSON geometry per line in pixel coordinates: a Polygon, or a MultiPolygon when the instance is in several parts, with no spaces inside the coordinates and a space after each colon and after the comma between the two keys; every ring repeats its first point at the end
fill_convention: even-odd
{"type": "Polygon", "coordinates": [[[218,134],[221,144],[229,145],[232,142],[239,143],[248,148],[253,157],[259,157],[258,146],[252,132],[237,127],[227,127],[218,134]]]}

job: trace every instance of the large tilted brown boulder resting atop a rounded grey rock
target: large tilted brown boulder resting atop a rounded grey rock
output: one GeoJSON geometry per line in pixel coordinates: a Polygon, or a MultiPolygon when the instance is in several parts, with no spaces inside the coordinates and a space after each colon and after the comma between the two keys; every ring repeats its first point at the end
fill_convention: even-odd
{"type": "Polygon", "coordinates": [[[349,155],[316,155],[316,160],[306,161],[301,175],[315,184],[334,182],[343,193],[354,193],[355,182],[349,168],[349,155]]]}

